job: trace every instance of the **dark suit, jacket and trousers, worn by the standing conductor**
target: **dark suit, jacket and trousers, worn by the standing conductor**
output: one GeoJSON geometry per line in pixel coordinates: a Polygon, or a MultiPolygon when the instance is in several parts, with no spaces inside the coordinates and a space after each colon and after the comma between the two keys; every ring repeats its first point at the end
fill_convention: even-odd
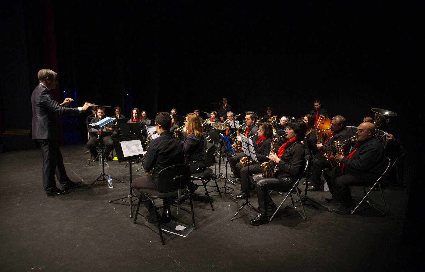
{"type": "Polygon", "coordinates": [[[78,108],[62,107],[44,85],[38,84],[31,95],[32,122],[31,137],[41,146],[43,157],[43,187],[46,193],[57,190],[54,175],[64,186],[69,178],[66,175],[59,150],[59,114],[78,114],[78,108]]]}

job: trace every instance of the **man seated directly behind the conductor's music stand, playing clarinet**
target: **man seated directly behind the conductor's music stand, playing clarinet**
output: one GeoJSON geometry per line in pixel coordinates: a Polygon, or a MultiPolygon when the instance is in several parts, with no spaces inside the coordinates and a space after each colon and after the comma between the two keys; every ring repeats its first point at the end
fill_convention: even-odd
{"type": "MultiPolygon", "coordinates": [[[[104,107],[98,107],[97,108],[97,117],[91,120],[91,123],[96,123],[100,120],[105,118],[105,108],[104,107]]],[[[109,157],[109,153],[111,153],[111,150],[113,148],[113,142],[112,142],[112,129],[105,127],[108,131],[102,131],[102,137],[98,135],[98,132],[91,132],[90,138],[87,141],[87,148],[90,150],[91,155],[95,158],[96,161],[99,160],[99,157],[97,156],[97,150],[96,147],[99,144],[99,141],[103,141],[103,146],[105,147],[105,153],[104,153],[104,160],[109,161],[111,158],[109,157]],[[98,140],[99,136],[99,140],[98,140]]]]}

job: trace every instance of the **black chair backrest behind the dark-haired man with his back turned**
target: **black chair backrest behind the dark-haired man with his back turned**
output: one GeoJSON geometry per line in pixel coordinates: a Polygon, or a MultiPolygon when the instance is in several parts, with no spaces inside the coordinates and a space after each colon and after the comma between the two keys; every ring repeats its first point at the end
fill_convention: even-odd
{"type": "Polygon", "coordinates": [[[170,193],[190,184],[190,166],[176,164],[162,169],[158,174],[158,191],[170,193]],[[180,185],[180,186],[179,186],[180,185]]]}

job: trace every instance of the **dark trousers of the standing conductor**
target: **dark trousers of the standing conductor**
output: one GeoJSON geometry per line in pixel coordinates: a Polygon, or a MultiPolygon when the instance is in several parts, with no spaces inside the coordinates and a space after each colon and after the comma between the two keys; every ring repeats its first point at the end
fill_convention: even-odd
{"type": "Polygon", "coordinates": [[[37,142],[40,144],[43,158],[43,187],[46,193],[50,193],[57,189],[56,180],[54,179],[55,174],[62,186],[68,182],[69,177],[63,165],[62,153],[60,153],[57,140],[38,139],[37,142]]]}

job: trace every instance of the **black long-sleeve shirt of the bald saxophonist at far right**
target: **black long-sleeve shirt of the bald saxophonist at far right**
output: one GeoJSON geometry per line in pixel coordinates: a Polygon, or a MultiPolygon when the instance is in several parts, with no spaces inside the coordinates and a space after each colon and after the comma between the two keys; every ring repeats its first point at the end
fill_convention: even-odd
{"type": "Polygon", "coordinates": [[[351,158],[341,160],[345,164],[344,174],[364,174],[377,179],[385,165],[384,146],[373,136],[357,144],[357,149],[351,158]]]}

